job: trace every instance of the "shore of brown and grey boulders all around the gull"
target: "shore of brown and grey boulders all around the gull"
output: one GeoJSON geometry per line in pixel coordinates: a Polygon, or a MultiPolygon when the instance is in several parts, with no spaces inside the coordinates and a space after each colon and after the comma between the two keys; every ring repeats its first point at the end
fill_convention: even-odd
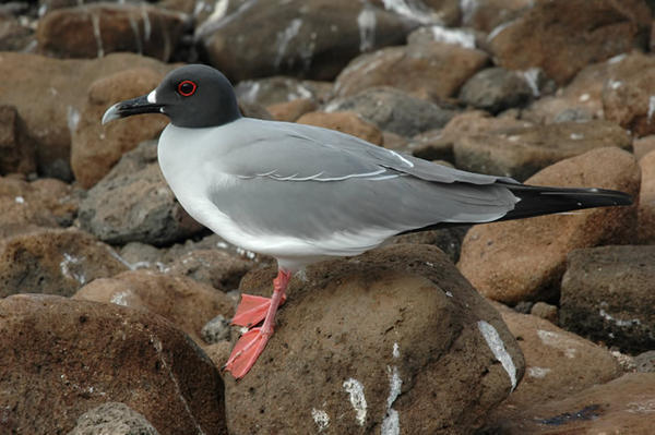
{"type": "Polygon", "coordinates": [[[652,433],[652,8],[3,2],[0,433],[652,433]],[[274,261],[176,201],[156,161],[165,117],[100,124],[193,62],[223,71],[249,117],[634,204],[310,266],[235,382],[229,318],[241,292],[270,294],[274,261]]]}

